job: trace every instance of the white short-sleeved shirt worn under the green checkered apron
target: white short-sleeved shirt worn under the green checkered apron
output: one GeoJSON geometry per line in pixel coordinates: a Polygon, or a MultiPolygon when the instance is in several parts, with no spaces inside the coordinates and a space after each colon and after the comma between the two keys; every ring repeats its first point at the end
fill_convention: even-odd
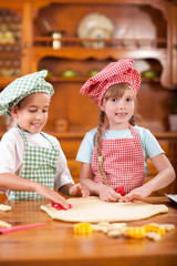
{"type": "MultiPolygon", "coordinates": [[[[29,132],[24,132],[24,134],[30,145],[51,149],[51,143],[43,137],[42,134],[31,134],[29,132]]],[[[56,174],[54,176],[54,186],[59,190],[67,183],[74,184],[74,181],[67,168],[66,158],[59,141],[54,136],[50,135],[50,137],[53,139],[53,142],[60,151],[56,164],[56,174]]],[[[20,176],[23,167],[23,157],[24,141],[19,131],[15,127],[12,127],[2,136],[0,142],[0,174],[12,173],[20,176]]],[[[1,190],[0,193],[4,193],[4,191],[1,190]]]]}

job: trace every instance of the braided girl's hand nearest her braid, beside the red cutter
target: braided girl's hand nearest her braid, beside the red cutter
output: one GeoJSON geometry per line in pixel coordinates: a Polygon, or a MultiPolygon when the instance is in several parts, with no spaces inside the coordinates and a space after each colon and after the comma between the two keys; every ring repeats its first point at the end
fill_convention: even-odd
{"type": "Polygon", "coordinates": [[[107,185],[100,186],[98,195],[100,198],[104,202],[117,202],[121,198],[121,195],[107,185]]]}

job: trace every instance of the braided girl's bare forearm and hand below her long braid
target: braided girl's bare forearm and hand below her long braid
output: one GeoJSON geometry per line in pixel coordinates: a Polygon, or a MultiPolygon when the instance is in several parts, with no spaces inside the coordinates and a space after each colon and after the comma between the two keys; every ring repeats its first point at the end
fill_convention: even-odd
{"type": "Polygon", "coordinates": [[[119,198],[119,194],[117,194],[112,187],[93,181],[90,163],[81,163],[80,182],[85,185],[91,195],[98,195],[102,201],[115,202],[119,198]]]}

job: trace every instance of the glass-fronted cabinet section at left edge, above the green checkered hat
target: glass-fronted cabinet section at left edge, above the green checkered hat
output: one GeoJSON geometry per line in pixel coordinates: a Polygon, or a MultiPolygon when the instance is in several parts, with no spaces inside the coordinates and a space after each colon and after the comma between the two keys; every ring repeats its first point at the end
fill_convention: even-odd
{"type": "Polygon", "coordinates": [[[20,12],[0,8],[0,78],[3,84],[21,75],[21,28],[20,12]],[[3,83],[4,82],[4,83],[3,83]]]}

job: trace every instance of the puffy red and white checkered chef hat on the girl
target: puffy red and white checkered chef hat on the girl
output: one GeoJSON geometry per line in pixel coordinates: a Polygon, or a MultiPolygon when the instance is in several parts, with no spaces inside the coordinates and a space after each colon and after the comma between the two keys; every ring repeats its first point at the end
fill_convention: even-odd
{"type": "Polygon", "coordinates": [[[114,84],[128,83],[137,94],[140,86],[140,74],[132,66],[133,63],[132,59],[121,59],[117,62],[110,63],[85,82],[80,90],[80,94],[86,93],[100,106],[105,92],[114,84]]]}

